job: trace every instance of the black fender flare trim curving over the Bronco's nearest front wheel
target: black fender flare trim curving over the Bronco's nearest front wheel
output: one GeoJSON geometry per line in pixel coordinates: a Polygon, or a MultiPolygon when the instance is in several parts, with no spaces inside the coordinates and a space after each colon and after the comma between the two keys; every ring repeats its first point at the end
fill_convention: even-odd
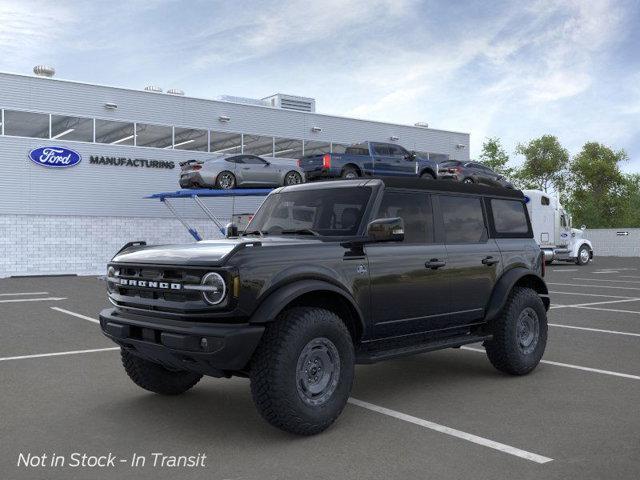
{"type": "Polygon", "coordinates": [[[297,280],[288,284],[285,284],[275,291],[271,292],[260,303],[258,308],[254,310],[249,323],[261,324],[273,321],[276,316],[282,311],[282,309],[291,303],[296,298],[310,292],[332,292],[340,295],[345,301],[349,303],[351,308],[356,312],[356,321],[359,322],[361,331],[365,331],[364,321],[362,319],[362,312],[358,305],[353,300],[351,295],[345,292],[342,288],[323,280],[297,280]]]}

